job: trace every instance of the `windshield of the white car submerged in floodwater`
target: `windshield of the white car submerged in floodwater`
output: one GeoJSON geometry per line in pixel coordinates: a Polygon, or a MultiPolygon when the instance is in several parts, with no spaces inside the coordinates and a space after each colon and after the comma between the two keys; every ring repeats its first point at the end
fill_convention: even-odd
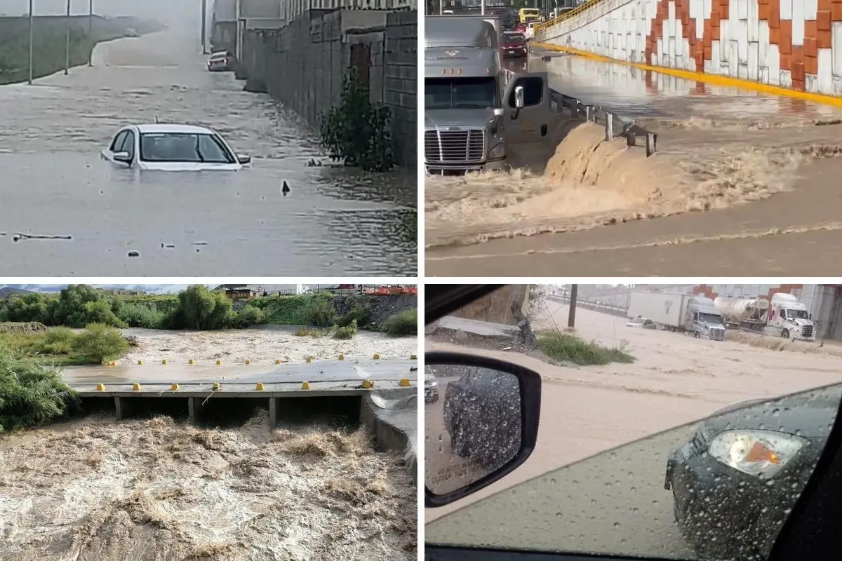
{"type": "Polygon", "coordinates": [[[171,132],[141,134],[141,160],[234,163],[217,135],[171,132]]]}

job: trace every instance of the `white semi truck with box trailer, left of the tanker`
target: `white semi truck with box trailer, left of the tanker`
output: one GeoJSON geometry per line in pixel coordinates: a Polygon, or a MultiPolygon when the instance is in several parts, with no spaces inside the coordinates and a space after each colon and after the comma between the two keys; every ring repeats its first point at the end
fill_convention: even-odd
{"type": "Polygon", "coordinates": [[[714,307],[713,300],[703,296],[632,292],[628,316],[653,320],[669,331],[687,332],[713,341],[725,339],[722,312],[714,307]]]}

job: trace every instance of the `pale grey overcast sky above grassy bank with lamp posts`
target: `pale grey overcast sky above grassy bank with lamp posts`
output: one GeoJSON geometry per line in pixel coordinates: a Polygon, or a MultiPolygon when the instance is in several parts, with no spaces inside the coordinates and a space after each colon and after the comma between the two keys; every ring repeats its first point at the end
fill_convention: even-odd
{"type": "MultiPolygon", "coordinates": [[[[33,0],[35,15],[59,15],[67,10],[67,0],[33,0]]],[[[138,16],[175,22],[198,22],[201,0],[93,0],[93,13],[109,16],[138,16]]],[[[207,0],[208,18],[213,0],[207,0]]],[[[29,13],[29,0],[0,0],[0,15],[29,13]]],[[[88,13],[88,0],[71,0],[70,13],[88,13]]]]}

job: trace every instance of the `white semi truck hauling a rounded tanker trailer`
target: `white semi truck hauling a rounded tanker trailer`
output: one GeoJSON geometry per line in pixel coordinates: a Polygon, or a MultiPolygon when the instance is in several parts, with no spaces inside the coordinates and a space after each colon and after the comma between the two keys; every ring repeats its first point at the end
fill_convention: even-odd
{"type": "Polygon", "coordinates": [[[816,340],[816,326],[807,306],[792,294],[778,292],[771,299],[718,297],[713,304],[727,325],[784,339],[816,340]]]}

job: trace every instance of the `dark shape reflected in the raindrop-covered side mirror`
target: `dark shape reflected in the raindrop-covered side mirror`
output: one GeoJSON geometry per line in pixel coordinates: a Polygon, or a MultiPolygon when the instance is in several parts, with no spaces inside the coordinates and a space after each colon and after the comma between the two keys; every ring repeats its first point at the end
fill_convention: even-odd
{"type": "Polygon", "coordinates": [[[445,430],[461,458],[497,468],[520,449],[518,379],[486,368],[466,372],[445,388],[445,430]],[[489,420],[493,420],[489,422],[489,420]]]}

